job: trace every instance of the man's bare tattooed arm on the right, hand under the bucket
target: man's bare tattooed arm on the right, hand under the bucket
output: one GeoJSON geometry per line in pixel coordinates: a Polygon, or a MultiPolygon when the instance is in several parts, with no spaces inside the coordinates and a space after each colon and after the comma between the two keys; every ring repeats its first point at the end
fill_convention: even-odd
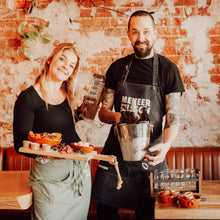
{"type": "Polygon", "coordinates": [[[171,144],[175,140],[179,128],[179,103],[180,93],[170,93],[165,97],[166,101],[166,124],[163,131],[163,143],[157,144],[149,149],[149,151],[157,151],[156,156],[146,156],[146,160],[151,160],[152,166],[161,163],[171,144]]]}

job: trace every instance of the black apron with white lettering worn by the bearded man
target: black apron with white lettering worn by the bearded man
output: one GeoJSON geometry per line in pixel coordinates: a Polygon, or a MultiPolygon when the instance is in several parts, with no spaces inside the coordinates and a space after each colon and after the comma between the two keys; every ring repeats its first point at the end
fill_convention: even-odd
{"type": "MultiPolygon", "coordinates": [[[[145,103],[150,108],[149,118],[154,125],[150,146],[153,146],[162,142],[162,120],[165,115],[164,97],[158,88],[158,55],[154,54],[152,85],[126,82],[132,60],[133,56],[128,65],[125,66],[122,80],[118,84],[114,101],[115,111],[120,112],[124,106],[128,108],[129,105],[123,102],[130,98],[144,100],[139,103],[145,103]]],[[[145,211],[148,208],[152,209],[154,201],[150,198],[149,193],[149,172],[154,169],[163,170],[167,168],[166,161],[154,167],[144,161],[124,161],[120,144],[114,134],[114,126],[111,127],[102,154],[117,157],[123,184],[120,190],[116,189],[117,174],[114,166],[100,161],[93,182],[92,199],[112,207],[145,211]]],[[[151,155],[155,154],[156,152],[151,153],[151,155]]]]}

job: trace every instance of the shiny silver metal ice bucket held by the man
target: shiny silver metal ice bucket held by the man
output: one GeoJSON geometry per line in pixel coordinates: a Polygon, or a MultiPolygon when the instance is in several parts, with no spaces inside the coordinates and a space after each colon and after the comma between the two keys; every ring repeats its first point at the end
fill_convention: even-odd
{"type": "Polygon", "coordinates": [[[153,125],[149,122],[116,125],[123,160],[140,161],[144,159],[149,148],[152,128],[153,125]]]}

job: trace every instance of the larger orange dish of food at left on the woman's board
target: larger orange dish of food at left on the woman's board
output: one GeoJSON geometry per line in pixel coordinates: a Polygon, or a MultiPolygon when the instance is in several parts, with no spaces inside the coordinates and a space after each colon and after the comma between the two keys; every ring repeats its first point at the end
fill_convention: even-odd
{"type": "Polygon", "coordinates": [[[34,133],[33,131],[30,131],[28,140],[39,144],[56,146],[62,141],[62,135],[60,133],[34,133]]]}

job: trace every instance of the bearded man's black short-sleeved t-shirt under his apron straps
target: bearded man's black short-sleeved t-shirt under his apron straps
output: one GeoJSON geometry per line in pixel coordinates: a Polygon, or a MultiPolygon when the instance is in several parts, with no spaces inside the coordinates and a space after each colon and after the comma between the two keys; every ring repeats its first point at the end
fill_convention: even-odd
{"type": "MultiPolygon", "coordinates": [[[[116,60],[106,73],[105,86],[117,90],[118,82],[121,80],[125,65],[128,64],[131,55],[116,60]]],[[[184,92],[184,86],[180,77],[178,67],[165,56],[158,54],[158,85],[164,95],[173,92],[184,92]]],[[[153,58],[137,59],[134,57],[127,77],[128,82],[152,85],[153,58]]]]}

